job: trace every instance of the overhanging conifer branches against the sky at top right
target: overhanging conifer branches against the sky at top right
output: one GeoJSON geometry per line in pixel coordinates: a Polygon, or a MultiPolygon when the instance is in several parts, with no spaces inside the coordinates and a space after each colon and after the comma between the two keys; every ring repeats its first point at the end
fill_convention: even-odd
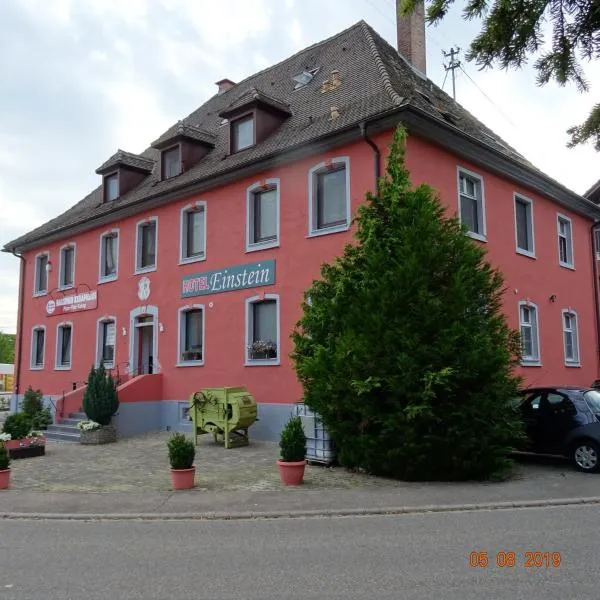
{"type": "MultiPolygon", "coordinates": [[[[403,0],[401,12],[409,13],[420,0],[403,0]]],[[[455,0],[428,0],[427,20],[439,23],[455,0]]],[[[481,31],[471,42],[467,60],[481,68],[522,67],[537,57],[534,67],[538,85],[551,80],[565,85],[573,81],[580,91],[588,91],[580,60],[600,57],[600,10],[593,0],[468,0],[463,19],[481,20],[481,31]],[[549,23],[548,42],[543,29],[549,23]]],[[[592,139],[600,151],[600,105],[582,125],[571,127],[569,147],[592,139]]]]}

